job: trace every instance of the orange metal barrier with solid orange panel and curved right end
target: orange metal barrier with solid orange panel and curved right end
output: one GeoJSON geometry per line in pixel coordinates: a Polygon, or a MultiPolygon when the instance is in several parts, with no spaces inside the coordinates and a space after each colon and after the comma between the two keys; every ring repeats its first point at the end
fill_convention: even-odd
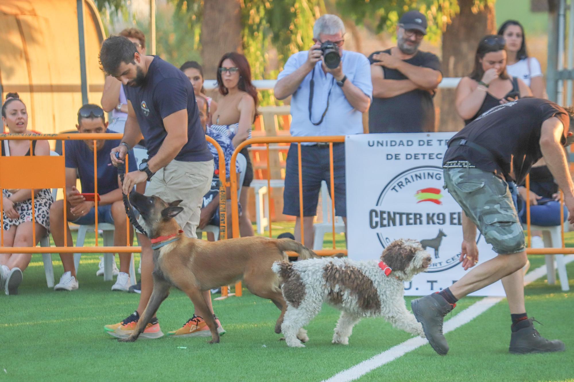
{"type": "MultiPolygon", "coordinates": [[[[123,134],[118,133],[105,133],[105,134],[0,134],[0,144],[4,139],[7,140],[20,140],[30,141],[30,153],[32,153],[32,141],[46,141],[46,140],[81,140],[81,141],[94,141],[94,169],[98,168],[96,141],[103,139],[121,139],[123,134]]],[[[212,143],[218,150],[219,154],[219,174],[223,179],[220,186],[220,233],[222,239],[227,237],[227,215],[226,215],[226,169],[225,157],[222,148],[211,137],[205,137],[208,142],[212,143]]],[[[128,169],[126,157],[126,172],[128,169]]],[[[94,188],[98,189],[98,171],[94,170],[94,188]]],[[[141,247],[131,247],[129,242],[130,235],[127,235],[126,247],[103,247],[100,246],[98,241],[98,198],[95,198],[95,246],[94,247],[68,247],[67,235],[64,235],[64,247],[37,247],[36,246],[36,219],[34,211],[34,189],[43,188],[61,188],[64,190],[64,232],[68,224],[67,220],[67,203],[65,192],[65,145],[62,145],[62,155],[48,156],[48,155],[31,155],[28,157],[23,156],[0,156],[0,190],[1,189],[32,189],[32,221],[34,228],[33,247],[4,247],[4,230],[3,227],[3,194],[0,192],[0,252],[6,254],[35,254],[35,253],[131,253],[141,252],[141,247]],[[22,174],[22,169],[26,169],[25,176],[22,174]]],[[[128,233],[131,225],[126,216],[128,233]]]]}

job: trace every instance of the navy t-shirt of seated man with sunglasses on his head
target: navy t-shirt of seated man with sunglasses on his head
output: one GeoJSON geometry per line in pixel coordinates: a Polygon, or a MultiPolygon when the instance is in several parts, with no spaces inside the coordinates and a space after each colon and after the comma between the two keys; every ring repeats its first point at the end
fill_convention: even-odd
{"type": "MultiPolygon", "coordinates": [[[[106,130],[106,132],[115,132],[106,130]]],[[[102,149],[98,150],[98,194],[107,194],[118,188],[118,167],[108,166],[111,163],[111,149],[117,147],[121,140],[108,139],[102,149]]],[[[94,193],[94,151],[84,141],[65,141],[65,166],[77,169],[80,175],[83,193],[94,193]]],[[[135,171],[136,162],[133,150],[127,153],[128,171],[135,171]]]]}

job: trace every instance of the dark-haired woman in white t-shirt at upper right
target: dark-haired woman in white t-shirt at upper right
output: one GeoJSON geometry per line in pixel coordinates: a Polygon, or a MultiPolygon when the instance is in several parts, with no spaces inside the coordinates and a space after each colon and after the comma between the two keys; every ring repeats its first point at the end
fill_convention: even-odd
{"type": "Polygon", "coordinates": [[[498,34],[505,38],[508,59],[506,71],[511,76],[518,77],[530,87],[536,98],[545,97],[544,78],[540,63],[526,52],[526,36],[524,28],[515,20],[507,20],[498,29],[498,34]]]}

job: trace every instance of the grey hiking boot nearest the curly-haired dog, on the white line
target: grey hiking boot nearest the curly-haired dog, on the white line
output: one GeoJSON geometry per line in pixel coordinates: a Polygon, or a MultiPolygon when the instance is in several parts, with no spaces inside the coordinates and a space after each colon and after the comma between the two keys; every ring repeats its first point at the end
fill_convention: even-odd
{"type": "Polygon", "coordinates": [[[430,346],[441,356],[448,353],[447,339],[443,335],[444,316],[455,306],[456,304],[449,304],[438,293],[429,294],[410,302],[414,317],[422,324],[422,330],[424,330],[430,346]]]}

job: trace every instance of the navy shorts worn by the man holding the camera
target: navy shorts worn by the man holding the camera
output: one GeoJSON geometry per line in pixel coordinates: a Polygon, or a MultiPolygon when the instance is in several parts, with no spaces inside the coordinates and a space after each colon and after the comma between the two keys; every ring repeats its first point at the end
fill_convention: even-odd
{"type": "MultiPolygon", "coordinates": [[[[329,195],[331,194],[329,145],[301,145],[301,169],[303,216],[315,216],[317,214],[321,181],[327,182],[329,195]]],[[[345,145],[342,142],[333,143],[333,180],[335,183],[335,216],[346,217],[345,145]]],[[[284,215],[300,215],[297,143],[291,144],[287,154],[283,202],[284,215]]]]}

